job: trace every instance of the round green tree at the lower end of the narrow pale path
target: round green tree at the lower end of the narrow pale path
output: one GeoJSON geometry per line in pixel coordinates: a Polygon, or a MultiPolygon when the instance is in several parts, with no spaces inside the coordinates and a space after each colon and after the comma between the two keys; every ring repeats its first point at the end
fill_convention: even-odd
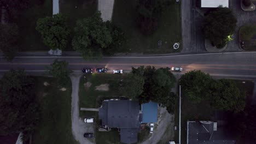
{"type": "Polygon", "coordinates": [[[69,29],[67,19],[61,14],[46,16],[37,21],[37,31],[42,35],[44,44],[50,49],[63,50],[67,46],[69,29]]]}

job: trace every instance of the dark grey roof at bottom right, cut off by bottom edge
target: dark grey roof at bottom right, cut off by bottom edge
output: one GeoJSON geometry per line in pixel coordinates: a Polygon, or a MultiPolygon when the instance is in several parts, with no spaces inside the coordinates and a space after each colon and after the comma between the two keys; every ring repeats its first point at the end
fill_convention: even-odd
{"type": "Polygon", "coordinates": [[[213,130],[213,123],[188,122],[188,144],[235,144],[224,127],[213,130]]]}

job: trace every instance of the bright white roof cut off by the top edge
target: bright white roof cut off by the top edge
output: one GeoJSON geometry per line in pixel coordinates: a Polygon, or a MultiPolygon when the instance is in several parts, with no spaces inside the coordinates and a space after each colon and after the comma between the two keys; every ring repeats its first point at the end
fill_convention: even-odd
{"type": "Polygon", "coordinates": [[[202,8],[218,8],[219,5],[229,7],[229,0],[201,0],[202,8]]]}

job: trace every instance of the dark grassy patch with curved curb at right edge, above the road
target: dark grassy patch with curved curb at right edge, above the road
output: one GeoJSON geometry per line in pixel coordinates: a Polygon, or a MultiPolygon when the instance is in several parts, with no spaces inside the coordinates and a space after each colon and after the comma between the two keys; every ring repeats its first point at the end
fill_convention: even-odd
{"type": "Polygon", "coordinates": [[[245,25],[240,29],[241,47],[246,51],[256,50],[256,25],[245,25]],[[244,46],[242,46],[244,45],[244,46]]]}

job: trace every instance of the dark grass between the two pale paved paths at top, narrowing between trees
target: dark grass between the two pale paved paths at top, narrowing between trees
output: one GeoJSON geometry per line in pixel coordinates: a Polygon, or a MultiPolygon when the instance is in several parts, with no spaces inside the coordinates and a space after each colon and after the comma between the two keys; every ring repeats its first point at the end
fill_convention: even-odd
{"type": "Polygon", "coordinates": [[[97,11],[97,0],[60,0],[60,13],[67,16],[71,28],[71,37],[66,50],[73,50],[71,41],[74,36],[75,23],[79,19],[90,17],[97,11]],[[75,8],[76,7],[76,8],[75,8]]]}

